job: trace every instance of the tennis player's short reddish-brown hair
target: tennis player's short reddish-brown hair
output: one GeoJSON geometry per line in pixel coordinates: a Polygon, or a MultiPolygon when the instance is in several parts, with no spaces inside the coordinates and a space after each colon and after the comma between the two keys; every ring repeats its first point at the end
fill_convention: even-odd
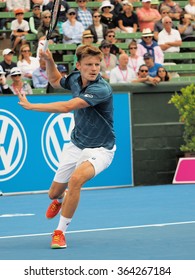
{"type": "Polygon", "coordinates": [[[98,47],[92,45],[80,46],[76,50],[77,61],[81,61],[87,56],[98,56],[100,60],[103,58],[103,54],[98,47]]]}

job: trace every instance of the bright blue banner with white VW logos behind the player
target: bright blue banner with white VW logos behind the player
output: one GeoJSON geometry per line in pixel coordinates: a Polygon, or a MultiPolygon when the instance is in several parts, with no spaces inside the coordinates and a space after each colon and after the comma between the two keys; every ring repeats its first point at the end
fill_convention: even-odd
{"type": "MultiPolygon", "coordinates": [[[[28,96],[30,102],[70,99],[69,95],[28,96]]],[[[117,151],[111,166],[85,187],[131,186],[132,155],[129,96],[114,94],[117,151]]],[[[73,113],[27,111],[17,96],[0,97],[0,190],[3,193],[48,190],[62,151],[70,141],[73,113]]]]}

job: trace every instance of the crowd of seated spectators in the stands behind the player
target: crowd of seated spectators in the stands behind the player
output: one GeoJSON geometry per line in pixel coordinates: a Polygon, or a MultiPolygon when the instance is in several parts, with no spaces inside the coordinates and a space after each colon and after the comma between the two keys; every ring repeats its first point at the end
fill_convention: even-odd
{"type": "MultiPolygon", "coordinates": [[[[178,53],[184,40],[195,39],[195,0],[186,1],[183,8],[173,0],[137,1],[97,0],[97,7],[88,8],[88,0],[76,0],[77,7],[72,8],[72,1],[62,0],[49,44],[96,44],[103,53],[101,75],[111,84],[167,82],[171,74],[163,66],[165,53],[178,53]],[[134,5],[137,1],[139,7],[134,5]],[[138,39],[116,39],[118,33],[136,32],[141,33],[138,39]],[[120,42],[127,43],[128,50],[118,47],[120,42]]],[[[53,0],[0,2],[5,2],[0,12],[13,12],[15,17],[0,18],[0,39],[4,39],[3,30],[10,26],[10,45],[2,51],[0,61],[0,94],[32,94],[33,88],[48,89],[45,62],[39,59],[39,51],[49,29],[53,0]],[[29,18],[26,12],[31,12],[29,18]],[[34,50],[27,34],[35,35],[34,50]]],[[[56,67],[66,76],[76,70],[76,61],[74,55],[72,69],[58,61],[56,67]]]]}

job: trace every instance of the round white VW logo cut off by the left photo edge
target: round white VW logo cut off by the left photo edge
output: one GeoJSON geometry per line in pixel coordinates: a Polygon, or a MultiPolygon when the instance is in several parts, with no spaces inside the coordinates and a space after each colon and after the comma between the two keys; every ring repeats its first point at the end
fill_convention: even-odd
{"type": "Polygon", "coordinates": [[[0,109],[0,182],[14,177],[27,154],[24,128],[15,115],[0,109]]]}

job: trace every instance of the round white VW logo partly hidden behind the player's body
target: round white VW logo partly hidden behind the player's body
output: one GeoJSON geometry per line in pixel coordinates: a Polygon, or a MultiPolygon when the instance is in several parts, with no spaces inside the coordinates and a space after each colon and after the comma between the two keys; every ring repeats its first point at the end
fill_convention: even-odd
{"type": "Polygon", "coordinates": [[[74,128],[73,113],[51,114],[46,120],[41,136],[41,147],[49,167],[56,171],[64,147],[70,142],[74,128]]]}

